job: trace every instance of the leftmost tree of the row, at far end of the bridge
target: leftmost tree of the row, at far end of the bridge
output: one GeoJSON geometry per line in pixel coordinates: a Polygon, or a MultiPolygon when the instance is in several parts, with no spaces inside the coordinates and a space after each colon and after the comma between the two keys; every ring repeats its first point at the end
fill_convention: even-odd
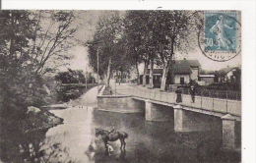
{"type": "Polygon", "coordinates": [[[104,16],[98,21],[93,40],[88,42],[90,65],[96,71],[97,53],[99,55],[100,74],[101,76],[106,75],[106,86],[109,85],[112,62],[117,59],[117,57],[114,57],[114,49],[118,39],[121,38],[121,25],[119,12],[110,11],[104,13],[104,16]]]}

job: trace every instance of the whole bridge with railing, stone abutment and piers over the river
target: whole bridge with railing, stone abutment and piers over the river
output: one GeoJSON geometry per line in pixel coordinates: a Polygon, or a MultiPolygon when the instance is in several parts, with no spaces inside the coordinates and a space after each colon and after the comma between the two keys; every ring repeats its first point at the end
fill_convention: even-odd
{"type": "Polygon", "coordinates": [[[175,132],[221,129],[224,148],[236,148],[241,138],[241,101],[182,94],[138,85],[111,84],[113,95],[97,96],[101,110],[145,112],[146,121],[173,121],[175,132]]]}

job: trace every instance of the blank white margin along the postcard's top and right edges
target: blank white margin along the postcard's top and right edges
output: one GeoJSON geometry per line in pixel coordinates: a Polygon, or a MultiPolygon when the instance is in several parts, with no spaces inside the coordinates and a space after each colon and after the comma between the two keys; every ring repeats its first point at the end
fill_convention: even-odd
{"type": "Polygon", "coordinates": [[[17,10],[240,10],[242,12],[242,162],[255,161],[255,1],[2,0],[17,10]]]}

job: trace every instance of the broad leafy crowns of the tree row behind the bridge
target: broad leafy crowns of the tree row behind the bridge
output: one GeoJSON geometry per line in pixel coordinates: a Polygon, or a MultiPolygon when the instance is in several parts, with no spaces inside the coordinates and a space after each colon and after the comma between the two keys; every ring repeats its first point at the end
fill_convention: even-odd
{"type": "Polygon", "coordinates": [[[157,64],[163,68],[161,88],[165,87],[174,54],[193,50],[202,27],[201,13],[192,11],[128,11],[123,20],[107,17],[99,20],[94,39],[89,42],[89,60],[94,70],[96,52],[101,77],[109,74],[111,66],[127,72],[136,67],[139,79],[140,63],[145,63],[145,69],[151,65],[151,75],[153,65],[157,64]]]}

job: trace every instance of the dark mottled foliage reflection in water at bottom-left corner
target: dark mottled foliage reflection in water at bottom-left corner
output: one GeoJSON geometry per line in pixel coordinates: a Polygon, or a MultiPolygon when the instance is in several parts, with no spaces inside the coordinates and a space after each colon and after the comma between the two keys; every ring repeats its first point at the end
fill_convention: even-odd
{"type": "MultiPolygon", "coordinates": [[[[46,130],[30,134],[12,136],[5,133],[1,136],[0,158],[3,162],[69,162],[68,150],[59,142],[50,143],[50,137],[45,137],[46,130]],[[62,157],[64,155],[65,157],[62,157]]],[[[71,162],[71,161],[70,161],[71,162]]]]}

